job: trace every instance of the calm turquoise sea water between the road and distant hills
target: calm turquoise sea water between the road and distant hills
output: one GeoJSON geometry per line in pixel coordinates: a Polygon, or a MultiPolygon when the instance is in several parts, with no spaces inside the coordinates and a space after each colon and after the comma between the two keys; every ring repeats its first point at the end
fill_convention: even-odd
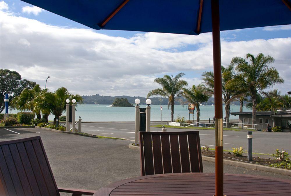
{"type": "MultiPolygon", "coordinates": [[[[145,108],[146,105],[140,105],[141,108],[145,108]]],[[[151,105],[151,121],[161,120],[161,105],[151,105]]],[[[201,106],[201,120],[210,120],[214,116],[214,106],[201,106]]],[[[244,107],[244,112],[251,111],[244,107]]],[[[230,112],[239,112],[239,106],[230,106],[230,112]]],[[[16,110],[12,110],[9,113],[17,113],[16,110]]],[[[79,105],[76,111],[76,119],[81,116],[82,121],[134,121],[135,107],[109,107],[109,105],[79,105]]],[[[174,118],[177,116],[185,117],[185,120],[189,118],[188,107],[182,105],[175,105],[174,118]]],[[[225,111],[223,107],[223,116],[225,111]]],[[[54,116],[49,115],[49,120],[53,120],[54,116]]],[[[190,119],[193,119],[193,115],[190,114],[190,119]]],[[[230,115],[230,119],[238,119],[238,116],[230,115]]],[[[166,105],[163,105],[162,120],[171,120],[171,109],[167,109],[166,105]]],[[[194,120],[196,120],[196,110],[194,110],[194,120]]]]}

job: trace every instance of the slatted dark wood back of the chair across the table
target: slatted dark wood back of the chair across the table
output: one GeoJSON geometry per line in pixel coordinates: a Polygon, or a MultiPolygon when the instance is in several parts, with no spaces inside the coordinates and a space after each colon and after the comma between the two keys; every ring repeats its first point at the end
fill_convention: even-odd
{"type": "Polygon", "coordinates": [[[199,131],[139,132],[141,175],[203,172],[199,131]]]}

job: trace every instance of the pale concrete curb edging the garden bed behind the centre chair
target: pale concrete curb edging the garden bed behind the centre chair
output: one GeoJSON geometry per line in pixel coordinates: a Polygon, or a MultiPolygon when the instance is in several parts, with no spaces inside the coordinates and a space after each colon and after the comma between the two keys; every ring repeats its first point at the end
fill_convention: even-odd
{"type": "MultiPolygon", "coordinates": [[[[132,144],[128,144],[128,148],[139,150],[139,146],[134,146],[132,144]]],[[[202,156],[202,160],[215,162],[214,157],[202,156]]],[[[223,159],[223,164],[236,166],[236,167],[243,167],[243,168],[248,168],[248,169],[253,169],[253,170],[274,172],[274,173],[291,176],[291,170],[288,170],[288,169],[281,169],[281,168],[276,168],[276,167],[269,167],[269,166],[264,166],[264,165],[257,165],[257,164],[239,162],[239,161],[225,160],[225,159],[223,159]]]]}

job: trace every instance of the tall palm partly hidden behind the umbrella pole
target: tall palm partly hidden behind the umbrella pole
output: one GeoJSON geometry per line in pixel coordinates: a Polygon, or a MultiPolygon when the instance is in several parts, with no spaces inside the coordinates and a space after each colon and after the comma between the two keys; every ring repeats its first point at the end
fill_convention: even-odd
{"type": "MultiPolygon", "coordinates": [[[[225,107],[226,122],[229,122],[230,103],[235,101],[238,97],[242,96],[245,92],[244,89],[237,88],[235,85],[226,86],[228,81],[236,77],[233,64],[228,65],[226,68],[221,66],[222,72],[222,95],[225,107]]],[[[208,92],[214,94],[214,74],[212,71],[203,72],[202,76],[204,83],[207,86],[208,92]]]]}

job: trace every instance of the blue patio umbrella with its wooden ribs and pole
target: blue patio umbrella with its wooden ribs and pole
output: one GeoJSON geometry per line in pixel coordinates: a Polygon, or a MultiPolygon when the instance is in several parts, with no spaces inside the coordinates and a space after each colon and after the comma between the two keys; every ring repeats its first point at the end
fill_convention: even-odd
{"type": "Polygon", "coordinates": [[[90,28],[199,35],[212,32],[215,194],[223,195],[220,31],[291,24],[290,0],[22,0],[90,28]]]}

